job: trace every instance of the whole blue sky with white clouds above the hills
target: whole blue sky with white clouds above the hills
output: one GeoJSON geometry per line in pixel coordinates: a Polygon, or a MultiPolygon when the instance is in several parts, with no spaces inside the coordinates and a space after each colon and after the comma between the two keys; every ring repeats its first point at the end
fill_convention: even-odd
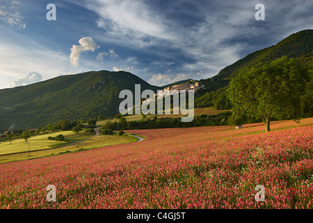
{"type": "Polygon", "coordinates": [[[154,85],[213,77],[312,29],[313,1],[0,0],[0,89],[89,70],[154,85]],[[56,5],[48,21],[47,4],[56,5]],[[257,3],[265,20],[255,20],[257,3]]]}

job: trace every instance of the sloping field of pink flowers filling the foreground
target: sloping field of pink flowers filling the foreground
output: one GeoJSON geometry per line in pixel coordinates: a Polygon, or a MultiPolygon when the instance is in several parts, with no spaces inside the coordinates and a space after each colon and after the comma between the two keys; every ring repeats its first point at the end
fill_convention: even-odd
{"type": "Polygon", "coordinates": [[[138,143],[0,164],[0,208],[313,208],[312,120],[272,132],[145,130],[138,143]]]}

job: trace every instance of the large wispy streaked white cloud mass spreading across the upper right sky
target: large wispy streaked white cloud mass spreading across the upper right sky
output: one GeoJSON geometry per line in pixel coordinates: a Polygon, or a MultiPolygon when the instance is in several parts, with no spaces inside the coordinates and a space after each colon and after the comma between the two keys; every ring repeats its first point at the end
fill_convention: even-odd
{"type": "Polygon", "coordinates": [[[160,68],[154,73],[164,72],[161,68],[168,69],[174,64],[166,63],[172,61],[176,67],[170,68],[177,73],[203,70],[202,77],[206,78],[291,33],[312,29],[307,22],[312,20],[313,14],[308,13],[312,12],[312,1],[285,4],[264,0],[266,21],[256,23],[257,3],[255,0],[169,1],[167,8],[158,7],[159,1],[154,4],[143,0],[91,0],[86,4],[99,15],[97,24],[105,30],[106,35],[97,36],[98,39],[162,58],[161,62],[150,62],[160,68]],[[186,4],[197,13],[180,10],[186,9],[186,4]],[[186,23],[189,18],[191,21],[186,23]]]}

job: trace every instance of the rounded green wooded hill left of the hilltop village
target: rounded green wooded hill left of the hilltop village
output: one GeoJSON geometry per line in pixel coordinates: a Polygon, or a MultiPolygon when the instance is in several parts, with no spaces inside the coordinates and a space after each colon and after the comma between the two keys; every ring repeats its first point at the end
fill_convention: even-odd
{"type": "Polygon", "coordinates": [[[0,130],[37,128],[64,119],[118,114],[120,91],[160,89],[129,72],[90,71],[65,75],[27,86],[0,90],[0,130]]]}

